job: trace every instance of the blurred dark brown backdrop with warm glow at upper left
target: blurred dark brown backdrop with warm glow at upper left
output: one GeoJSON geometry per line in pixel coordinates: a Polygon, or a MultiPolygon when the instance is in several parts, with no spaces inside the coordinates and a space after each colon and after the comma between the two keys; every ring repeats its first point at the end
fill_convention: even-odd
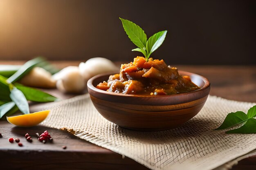
{"type": "Polygon", "coordinates": [[[148,37],[168,64],[256,64],[254,0],[0,0],[0,60],[129,61],[140,55],[119,17],[148,37]]]}

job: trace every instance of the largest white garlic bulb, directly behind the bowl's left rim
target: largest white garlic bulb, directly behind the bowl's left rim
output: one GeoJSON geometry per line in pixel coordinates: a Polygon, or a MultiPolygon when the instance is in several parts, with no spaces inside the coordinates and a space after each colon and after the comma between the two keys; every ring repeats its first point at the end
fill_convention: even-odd
{"type": "Polygon", "coordinates": [[[79,71],[85,81],[94,75],[102,73],[118,72],[119,68],[110,60],[102,57],[95,57],[79,64],[79,71]]]}

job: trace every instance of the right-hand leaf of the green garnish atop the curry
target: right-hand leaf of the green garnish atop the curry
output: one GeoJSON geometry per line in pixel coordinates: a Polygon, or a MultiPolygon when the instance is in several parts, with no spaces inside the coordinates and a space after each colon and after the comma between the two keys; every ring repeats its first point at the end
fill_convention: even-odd
{"type": "Polygon", "coordinates": [[[148,58],[150,54],[152,54],[164,42],[166,33],[167,31],[160,31],[152,35],[150,38],[148,38],[148,41],[146,43],[148,58]]]}

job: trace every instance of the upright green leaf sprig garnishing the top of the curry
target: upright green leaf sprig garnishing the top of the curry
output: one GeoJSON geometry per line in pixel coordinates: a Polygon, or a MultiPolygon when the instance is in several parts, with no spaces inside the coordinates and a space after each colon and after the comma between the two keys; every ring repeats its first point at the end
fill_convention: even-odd
{"type": "Polygon", "coordinates": [[[140,26],[123,18],[120,18],[120,20],[123,24],[124,31],[126,31],[130,40],[139,47],[132,51],[143,53],[148,62],[150,55],[164,42],[167,31],[165,30],[155,33],[147,40],[147,35],[140,26]]]}

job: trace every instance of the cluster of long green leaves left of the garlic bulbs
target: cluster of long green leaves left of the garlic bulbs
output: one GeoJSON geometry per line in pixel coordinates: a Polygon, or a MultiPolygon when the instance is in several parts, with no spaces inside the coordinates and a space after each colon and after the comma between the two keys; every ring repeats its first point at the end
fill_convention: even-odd
{"type": "MultiPolygon", "coordinates": [[[[42,57],[37,57],[29,60],[18,69],[16,68],[16,71],[11,71],[12,75],[8,79],[0,74],[0,118],[4,115],[10,116],[18,110],[24,114],[28,114],[29,105],[27,100],[33,102],[54,102],[57,100],[56,97],[36,88],[14,83],[29,73],[35,66],[43,67],[49,66],[49,64],[42,57]]],[[[48,68],[52,69],[52,71],[56,71],[52,66],[48,68]]],[[[4,72],[4,69],[2,69],[2,71],[3,72],[0,70],[0,73],[10,75],[8,71],[4,72]]]]}

